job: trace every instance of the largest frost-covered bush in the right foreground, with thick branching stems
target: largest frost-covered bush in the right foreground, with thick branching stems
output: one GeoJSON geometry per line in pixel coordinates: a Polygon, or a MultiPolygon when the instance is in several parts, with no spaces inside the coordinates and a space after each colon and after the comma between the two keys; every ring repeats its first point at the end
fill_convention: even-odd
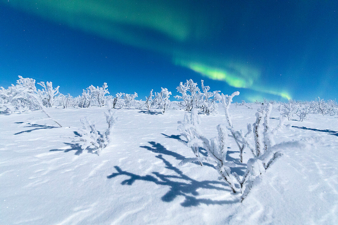
{"type": "MultiPolygon", "coordinates": [[[[199,127],[200,117],[196,110],[191,111],[191,115],[186,114],[183,121],[178,121],[178,130],[185,137],[185,144],[190,147],[195,155],[194,158],[187,158],[180,162],[179,165],[184,165],[189,162],[208,162],[215,164],[215,169],[231,188],[234,193],[240,192],[241,200],[249,193],[252,185],[266,169],[268,169],[276,158],[281,156],[279,152],[283,145],[275,145],[273,134],[280,129],[280,125],[275,129],[269,127],[269,117],[272,105],[268,103],[265,109],[259,108],[256,113],[256,122],[247,126],[248,132],[242,135],[242,131],[235,132],[232,127],[231,116],[228,113],[228,106],[232,102],[232,98],[238,95],[239,92],[233,93],[231,96],[222,95],[222,101],[225,102],[227,126],[219,124],[217,126],[218,134],[212,139],[206,138],[199,127]],[[251,133],[254,135],[255,147],[251,147],[246,139],[246,136],[251,133]],[[227,129],[234,132],[232,135],[227,134],[227,129]],[[227,161],[227,149],[229,147],[228,136],[235,139],[235,142],[243,146],[248,146],[253,157],[247,162],[246,170],[243,176],[232,172],[231,167],[237,167],[236,160],[227,161]],[[200,156],[199,148],[207,151],[208,156],[200,156]]],[[[243,147],[244,148],[244,147],[243,147]]],[[[241,156],[240,156],[241,157],[241,156]]],[[[239,165],[238,165],[239,166],[239,165]]],[[[243,164],[240,165],[241,167],[243,164]]]]}

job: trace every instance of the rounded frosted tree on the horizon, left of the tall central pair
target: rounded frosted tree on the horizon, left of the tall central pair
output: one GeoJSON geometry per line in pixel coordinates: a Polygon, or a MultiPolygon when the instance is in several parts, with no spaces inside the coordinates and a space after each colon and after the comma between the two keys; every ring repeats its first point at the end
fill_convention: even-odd
{"type": "Polygon", "coordinates": [[[176,89],[182,96],[176,95],[174,98],[182,99],[187,111],[191,111],[192,108],[199,106],[201,93],[197,83],[194,83],[192,79],[187,80],[184,84],[183,82],[180,82],[176,89]]]}

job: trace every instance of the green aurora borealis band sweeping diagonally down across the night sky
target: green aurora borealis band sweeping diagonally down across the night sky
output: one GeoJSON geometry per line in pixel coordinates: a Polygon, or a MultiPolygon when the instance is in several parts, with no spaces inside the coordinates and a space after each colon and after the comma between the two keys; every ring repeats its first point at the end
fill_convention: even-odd
{"type": "MultiPolygon", "coordinates": [[[[266,69],[262,71],[266,59],[257,59],[258,57],[250,52],[255,48],[249,51],[249,48],[238,44],[243,38],[236,37],[235,34],[245,34],[243,42],[249,40],[250,30],[243,29],[246,23],[249,23],[248,20],[256,16],[254,13],[264,9],[243,8],[243,12],[236,14],[235,19],[232,18],[234,14],[227,14],[231,9],[222,1],[10,0],[6,4],[81,32],[163,54],[170,58],[173,65],[195,71],[212,80],[222,81],[232,87],[250,90],[251,95],[247,95],[251,96],[250,98],[260,98],[264,94],[283,99],[294,97],[290,79],[285,83],[275,82],[274,78],[266,81],[270,76],[263,75],[266,69]],[[236,32],[234,24],[241,25],[236,32]],[[227,35],[225,38],[223,33],[227,35]],[[232,37],[228,40],[229,43],[236,39],[239,41],[235,46],[228,47],[227,37],[232,37]],[[246,56],[246,51],[249,52],[249,57],[246,56]]],[[[269,21],[261,23],[268,24],[269,21]]],[[[262,24],[257,27],[263,27],[262,24]]],[[[252,39],[255,38],[255,43],[260,43],[257,35],[252,36],[252,39]]],[[[270,66],[271,63],[266,67],[270,66]]]]}

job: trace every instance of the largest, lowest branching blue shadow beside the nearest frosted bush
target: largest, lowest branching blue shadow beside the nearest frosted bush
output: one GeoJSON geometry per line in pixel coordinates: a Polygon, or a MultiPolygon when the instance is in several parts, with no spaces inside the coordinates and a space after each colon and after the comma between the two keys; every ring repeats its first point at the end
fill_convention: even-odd
{"type": "Polygon", "coordinates": [[[183,174],[178,168],[174,167],[169,161],[163,158],[162,154],[158,154],[155,156],[163,161],[165,164],[165,168],[175,172],[176,175],[165,175],[159,172],[152,172],[151,175],[137,175],[134,173],[130,173],[127,171],[123,171],[120,167],[115,166],[117,173],[112,173],[111,175],[107,176],[108,179],[124,175],[128,176],[128,179],[125,179],[121,182],[122,185],[132,185],[136,180],[143,180],[153,182],[157,185],[165,185],[170,188],[170,190],[161,197],[162,201],[164,202],[171,202],[177,196],[184,196],[185,200],[181,203],[184,207],[189,206],[197,206],[201,203],[207,205],[223,205],[223,204],[231,204],[235,202],[239,202],[239,200],[212,200],[206,198],[197,198],[196,196],[199,195],[197,190],[199,189],[213,189],[218,191],[228,191],[231,190],[227,187],[225,182],[222,181],[214,181],[214,180],[203,180],[198,181],[195,179],[190,178],[189,176],[183,174]],[[174,180],[172,180],[174,179],[174,180]],[[177,181],[177,180],[182,181],[177,181]]]}

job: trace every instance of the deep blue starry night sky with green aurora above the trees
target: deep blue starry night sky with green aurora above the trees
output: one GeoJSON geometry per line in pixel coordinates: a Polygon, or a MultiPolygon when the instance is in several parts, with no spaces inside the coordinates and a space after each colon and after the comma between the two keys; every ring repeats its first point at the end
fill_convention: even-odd
{"type": "MultiPolygon", "coordinates": [[[[77,96],[200,80],[235,101],[338,96],[338,1],[0,0],[0,86],[77,96]]],[[[174,100],[172,98],[171,100],[174,100]]]]}

